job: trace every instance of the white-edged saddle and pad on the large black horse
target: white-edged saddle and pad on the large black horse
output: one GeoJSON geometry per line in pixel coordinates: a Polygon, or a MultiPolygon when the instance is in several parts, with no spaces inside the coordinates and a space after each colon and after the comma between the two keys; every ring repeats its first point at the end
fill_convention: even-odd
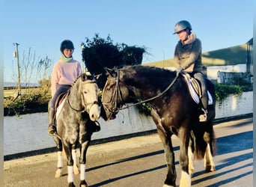
{"type": "MultiPolygon", "coordinates": [[[[184,79],[186,80],[186,84],[189,87],[189,93],[192,97],[192,99],[199,104],[202,91],[201,91],[201,85],[200,82],[198,82],[197,79],[193,78],[189,73],[180,73],[184,79]]],[[[213,105],[213,96],[210,94],[209,91],[207,91],[208,95],[208,105],[213,105]]]]}

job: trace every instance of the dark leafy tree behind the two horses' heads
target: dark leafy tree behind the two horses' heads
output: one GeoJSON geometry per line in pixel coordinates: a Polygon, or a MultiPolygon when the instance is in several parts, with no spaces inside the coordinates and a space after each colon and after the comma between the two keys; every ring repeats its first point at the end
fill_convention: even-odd
{"type": "Polygon", "coordinates": [[[110,36],[106,39],[95,34],[92,40],[85,38],[82,43],[82,59],[85,67],[94,75],[100,75],[98,85],[103,88],[106,82],[104,68],[124,67],[126,65],[141,64],[145,47],[127,46],[127,44],[113,44],[110,36]]]}

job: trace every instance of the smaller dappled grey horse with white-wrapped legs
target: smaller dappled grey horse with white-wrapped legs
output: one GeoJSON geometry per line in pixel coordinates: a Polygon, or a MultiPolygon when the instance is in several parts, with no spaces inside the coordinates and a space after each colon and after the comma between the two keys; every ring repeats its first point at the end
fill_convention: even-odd
{"type": "Polygon", "coordinates": [[[93,129],[91,123],[100,118],[100,106],[98,103],[98,86],[94,76],[83,73],[73,83],[63,101],[58,105],[56,112],[56,124],[58,135],[53,139],[58,150],[58,170],[55,177],[61,176],[62,149],[67,156],[67,182],[74,186],[74,173],[78,173],[76,166],[76,148],[80,149],[80,186],[87,186],[85,182],[86,152],[91,141],[93,129]],[[73,168],[73,165],[75,168],[73,168]]]}

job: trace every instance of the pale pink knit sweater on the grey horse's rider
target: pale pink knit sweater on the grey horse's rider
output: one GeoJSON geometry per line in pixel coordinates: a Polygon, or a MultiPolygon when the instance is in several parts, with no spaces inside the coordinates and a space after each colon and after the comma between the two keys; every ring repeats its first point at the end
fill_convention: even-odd
{"type": "Polygon", "coordinates": [[[57,85],[72,85],[78,76],[82,73],[79,61],[70,62],[57,61],[52,70],[51,91],[54,96],[57,85]]]}

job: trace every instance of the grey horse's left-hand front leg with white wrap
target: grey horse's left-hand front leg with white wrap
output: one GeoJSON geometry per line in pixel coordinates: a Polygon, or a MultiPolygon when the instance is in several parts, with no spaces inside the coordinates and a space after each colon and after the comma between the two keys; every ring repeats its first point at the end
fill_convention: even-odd
{"type": "Polygon", "coordinates": [[[63,142],[64,151],[67,156],[67,183],[69,187],[75,187],[73,176],[73,158],[72,158],[72,146],[70,143],[63,142]]]}

